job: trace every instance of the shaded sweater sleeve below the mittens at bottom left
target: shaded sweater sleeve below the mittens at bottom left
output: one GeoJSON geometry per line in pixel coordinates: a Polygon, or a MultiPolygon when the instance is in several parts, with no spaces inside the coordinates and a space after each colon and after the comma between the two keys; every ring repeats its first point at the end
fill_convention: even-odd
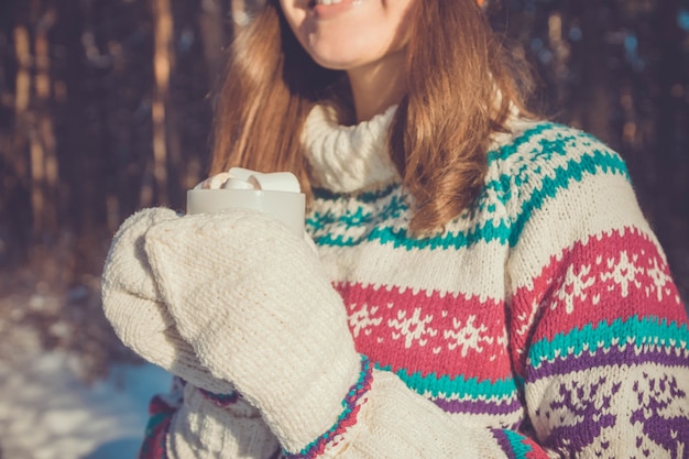
{"type": "Polygon", "coordinates": [[[139,459],[267,459],[280,445],[256,409],[237,394],[212,394],[175,376],[153,397],[139,459]]]}

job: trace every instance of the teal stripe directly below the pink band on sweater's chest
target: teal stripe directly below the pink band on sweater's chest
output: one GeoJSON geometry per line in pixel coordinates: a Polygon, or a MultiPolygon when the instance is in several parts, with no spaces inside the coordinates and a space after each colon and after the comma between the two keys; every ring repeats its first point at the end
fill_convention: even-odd
{"type": "MultiPolygon", "coordinates": [[[[379,370],[391,371],[390,367],[375,365],[379,370]]],[[[408,374],[406,370],[397,370],[394,372],[409,387],[419,394],[429,393],[430,396],[437,397],[440,394],[449,396],[458,394],[461,396],[470,396],[472,400],[506,400],[515,396],[517,392],[516,382],[512,378],[491,382],[490,380],[479,381],[477,378],[464,379],[461,375],[450,378],[447,375],[438,376],[430,373],[423,376],[420,372],[408,374]]]]}

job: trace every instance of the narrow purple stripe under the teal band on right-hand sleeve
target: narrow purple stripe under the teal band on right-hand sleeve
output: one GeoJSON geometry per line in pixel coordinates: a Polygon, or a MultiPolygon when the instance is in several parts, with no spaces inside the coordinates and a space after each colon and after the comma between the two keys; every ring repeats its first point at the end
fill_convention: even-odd
{"type": "Polygon", "coordinates": [[[590,370],[595,367],[605,365],[641,365],[644,363],[658,363],[665,367],[689,367],[689,358],[680,350],[679,356],[675,352],[677,348],[671,348],[668,354],[667,348],[656,347],[649,349],[647,346],[641,351],[627,345],[624,349],[614,346],[610,349],[598,349],[593,354],[583,351],[580,356],[567,356],[565,359],[556,359],[554,362],[544,361],[538,368],[528,370],[527,381],[534,382],[542,378],[556,374],[567,374],[575,371],[590,370]]]}

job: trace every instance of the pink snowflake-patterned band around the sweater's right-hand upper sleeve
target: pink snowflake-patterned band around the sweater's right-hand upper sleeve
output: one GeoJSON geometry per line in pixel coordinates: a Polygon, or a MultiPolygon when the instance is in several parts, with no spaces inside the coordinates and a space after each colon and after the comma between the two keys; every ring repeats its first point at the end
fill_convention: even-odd
{"type": "Polygon", "coordinates": [[[527,341],[550,340],[591,324],[633,316],[686,320],[664,256],[637,229],[591,237],[551,256],[533,288],[516,292],[512,315],[513,349],[522,358],[527,341]],[[544,313],[547,320],[534,326],[544,313]]]}

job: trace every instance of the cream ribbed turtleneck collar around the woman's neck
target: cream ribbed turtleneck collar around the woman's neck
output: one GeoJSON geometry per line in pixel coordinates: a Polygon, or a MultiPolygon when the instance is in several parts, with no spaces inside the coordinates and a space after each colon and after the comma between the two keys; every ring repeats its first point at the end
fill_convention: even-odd
{"type": "Polygon", "coordinates": [[[311,184],[333,193],[354,193],[398,181],[387,147],[395,110],[393,106],[370,121],[341,125],[335,108],[316,106],[302,135],[311,184]]]}

